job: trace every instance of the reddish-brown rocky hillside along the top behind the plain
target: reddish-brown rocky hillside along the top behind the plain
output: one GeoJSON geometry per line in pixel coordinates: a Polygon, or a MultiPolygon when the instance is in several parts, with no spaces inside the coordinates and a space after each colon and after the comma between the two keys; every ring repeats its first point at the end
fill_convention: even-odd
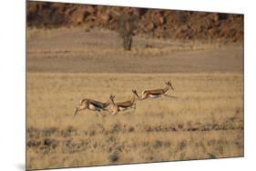
{"type": "Polygon", "coordinates": [[[120,15],[136,15],[136,35],[180,40],[243,41],[243,15],[130,8],[102,5],[27,2],[27,25],[84,26],[118,30],[120,15]]]}

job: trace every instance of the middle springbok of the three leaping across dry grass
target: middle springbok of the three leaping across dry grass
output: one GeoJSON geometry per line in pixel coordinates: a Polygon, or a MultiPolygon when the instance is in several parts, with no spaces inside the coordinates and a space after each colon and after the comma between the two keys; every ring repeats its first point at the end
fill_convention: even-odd
{"type": "Polygon", "coordinates": [[[110,108],[112,115],[117,115],[118,112],[128,110],[129,108],[136,109],[136,104],[135,104],[136,97],[135,96],[132,96],[131,99],[126,102],[118,102],[118,103],[114,102],[115,96],[111,95],[111,96],[109,96],[109,98],[112,101],[112,106],[110,108]]]}

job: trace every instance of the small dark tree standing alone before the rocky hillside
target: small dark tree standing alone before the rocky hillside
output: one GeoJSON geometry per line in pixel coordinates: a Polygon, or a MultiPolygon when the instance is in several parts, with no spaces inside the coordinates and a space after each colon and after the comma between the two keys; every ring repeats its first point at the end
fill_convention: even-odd
{"type": "Polygon", "coordinates": [[[118,33],[123,41],[125,50],[131,50],[132,36],[138,27],[138,15],[119,15],[118,33]]]}

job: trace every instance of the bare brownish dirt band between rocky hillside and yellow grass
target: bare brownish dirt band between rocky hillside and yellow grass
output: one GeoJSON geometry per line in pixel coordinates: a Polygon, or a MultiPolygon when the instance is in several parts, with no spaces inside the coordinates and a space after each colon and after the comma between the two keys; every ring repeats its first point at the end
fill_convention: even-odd
{"type": "Polygon", "coordinates": [[[172,42],[136,37],[131,52],[115,32],[28,30],[27,71],[57,73],[243,72],[242,45],[172,42]],[[150,45],[150,47],[147,47],[150,45]]]}

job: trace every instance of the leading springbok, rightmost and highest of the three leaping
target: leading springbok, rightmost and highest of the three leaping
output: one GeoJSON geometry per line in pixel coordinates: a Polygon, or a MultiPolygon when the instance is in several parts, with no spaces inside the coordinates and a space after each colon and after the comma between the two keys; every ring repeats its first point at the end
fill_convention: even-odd
{"type": "Polygon", "coordinates": [[[165,84],[167,85],[165,88],[159,88],[159,89],[152,89],[152,90],[144,90],[142,91],[141,95],[138,96],[137,91],[134,89],[132,90],[132,93],[134,93],[139,100],[144,100],[147,98],[159,98],[161,96],[168,96],[168,97],[174,97],[177,98],[177,96],[169,96],[166,95],[166,92],[169,90],[169,87],[174,90],[174,88],[172,87],[170,81],[169,82],[165,82],[165,84]]]}

